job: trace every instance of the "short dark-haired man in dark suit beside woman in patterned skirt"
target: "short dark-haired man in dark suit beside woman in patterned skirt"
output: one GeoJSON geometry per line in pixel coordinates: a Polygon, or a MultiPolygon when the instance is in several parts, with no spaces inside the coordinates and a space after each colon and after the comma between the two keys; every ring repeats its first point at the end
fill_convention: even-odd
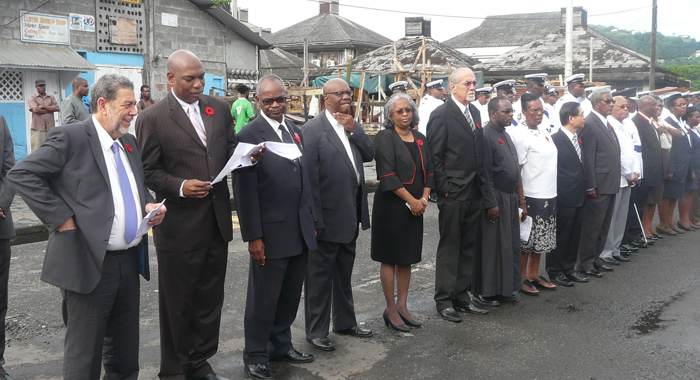
{"type": "Polygon", "coordinates": [[[574,269],[586,197],[583,156],[578,137],[585,118],[578,102],[567,102],[559,108],[562,128],[552,135],[558,152],[557,247],[547,254],[547,274],[557,285],[573,286],[574,282],[588,282],[588,277],[574,269]]]}

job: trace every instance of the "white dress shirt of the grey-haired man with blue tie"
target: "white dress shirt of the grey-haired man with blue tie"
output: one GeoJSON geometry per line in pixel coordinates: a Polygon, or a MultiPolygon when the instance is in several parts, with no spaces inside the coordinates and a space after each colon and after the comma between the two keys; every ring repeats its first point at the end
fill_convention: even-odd
{"type": "Polygon", "coordinates": [[[130,247],[135,247],[141,242],[141,237],[134,239],[131,244],[128,244],[124,238],[124,230],[126,229],[126,211],[124,210],[124,198],[122,197],[122,189],[119,185],[117,161],[115,160],[114,152],[112,152],[112,145],[115,141],[119,144],[119,157],[121,157],[122,164],[124,164],[124,169],[126,170],[126,175],[129,177],[131,193],[134,196],[134,202],[136,202],[136,220],[138,227],[138,223],[141,223],[141,219],[143,218],[143,212],[141,211],[141,198],[139,198],[139,190],[136,187],[136,178],[134,178],[134,172],[131,170],[131,164],[129,163],[129,155],[134,153],[128,152],[126,149],[124,149],[124,146],[122,146],[119,140],[112,139],[112,136],[105,131],[95,116],[92,117],[92,122],[95,124],[97,137],[100,139],[100,146],[102,147],[102,154],[105,158],[105,164],[107,164],[109,186],[112,190],[112,202],[114,202],[114,220],[112,221],[112,231],[109,233],[107,250],[119,251],[130,247]]]}

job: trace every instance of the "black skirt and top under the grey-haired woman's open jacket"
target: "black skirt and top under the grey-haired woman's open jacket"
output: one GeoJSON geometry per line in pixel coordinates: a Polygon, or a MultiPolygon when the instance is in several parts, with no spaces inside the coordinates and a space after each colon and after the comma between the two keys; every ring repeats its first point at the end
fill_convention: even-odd
{"type": "MultiPolygon", "coordinates": [[[[415,141],[405,143],[414,162],[421,162],[415,141]]],[[[404,188],[416,199],[423,196],[425,180],[418,168],[413,183],[404,188]]],[[[406,201],[393,191],[374,193],[372,206],[372,260],[391,265],[419,263],[423,250],[423,216],[414,216],[406,201]]]]}

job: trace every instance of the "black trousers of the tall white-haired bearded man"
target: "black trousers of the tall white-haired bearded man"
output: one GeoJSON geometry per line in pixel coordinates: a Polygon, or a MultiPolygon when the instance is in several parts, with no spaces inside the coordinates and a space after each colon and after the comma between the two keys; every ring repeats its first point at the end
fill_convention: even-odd
{"type": "Polygon", "coordinates": [[[440,241],[435,258],[438,310],[468,305],[476,255],[481,254],[481,202],[438,198],[440,241]]]}

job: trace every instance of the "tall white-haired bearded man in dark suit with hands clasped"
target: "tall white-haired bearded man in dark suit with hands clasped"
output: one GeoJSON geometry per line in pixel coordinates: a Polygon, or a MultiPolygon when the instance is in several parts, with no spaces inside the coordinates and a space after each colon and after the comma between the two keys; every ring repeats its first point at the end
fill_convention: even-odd
{"type": "Polygon", "coordinates": [[[461,322],[458,311],[486,314],[469,293],[475,256],[481,254],[479,216],[497,206],[483,199],[483,131],[476,97],[476,77],[468,68],[450,74],[451,96],[430,115],[428,145],[433,155],[440,210],[440,242],[435,263],[435,303],[440,316],[461,322]]]}

